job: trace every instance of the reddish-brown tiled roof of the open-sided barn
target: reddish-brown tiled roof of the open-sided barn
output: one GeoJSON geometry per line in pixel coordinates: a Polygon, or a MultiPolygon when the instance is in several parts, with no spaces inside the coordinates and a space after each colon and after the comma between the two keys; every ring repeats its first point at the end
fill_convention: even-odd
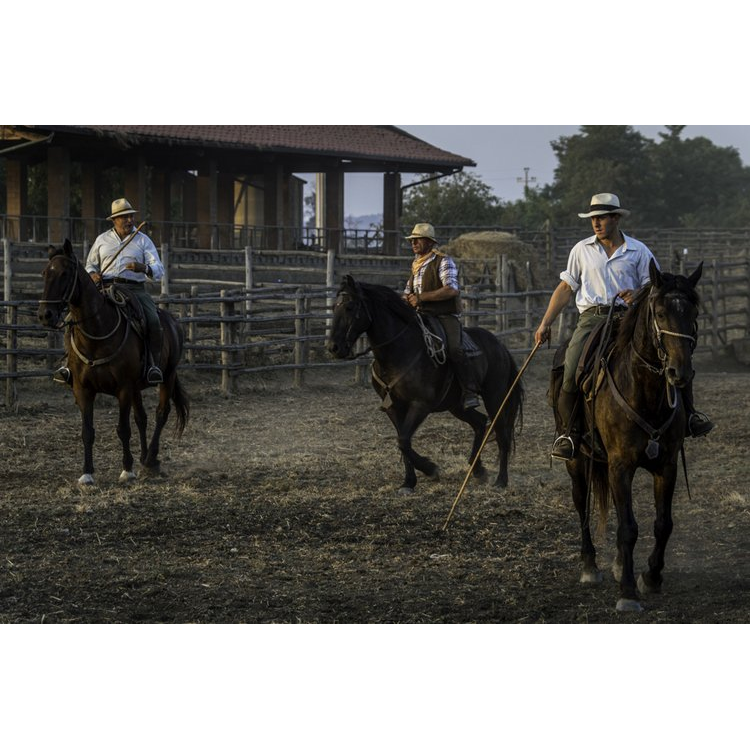
{"type": "MultiPolygon", "coordinates": [[[[41,127],[41,126],[40,126],[41,127]]],[[[307,153],[339,158],[433,163],[471,167],[475,163],[391,125],[81,125],[58,127],[68,132],[113,135],[133,145],[164,142],[243,151],[307,153]]]]}

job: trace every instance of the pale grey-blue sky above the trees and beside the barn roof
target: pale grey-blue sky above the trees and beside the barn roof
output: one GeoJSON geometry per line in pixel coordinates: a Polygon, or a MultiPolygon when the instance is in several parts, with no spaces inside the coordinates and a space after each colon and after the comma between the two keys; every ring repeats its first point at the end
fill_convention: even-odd
{"type": "MultiPolygon", "coordinates": [[[[503,201],[523,197],[528,167],[530,186],[552,182],[557,159],[550,143],[561,135],[574,135],[580,125],[398,125],[412,135],[475,161],[465,171],[479,176],[503,201]],[[531,181],[535,178],[536,182],[531,181]]],[[[647,138],[658,141],[663,125],[636,126],[647,138]]],[[[704,136],[717,146],[733,146],[750,165],[750,125],[688,125],[683,138],[704,136]]],[[[404,184],[414,176],[402,175],[404,184]]],[[[603,187],[601,189],[604,189],[603,187]]],[[[596,192],[599,187],[592,186],[596,192]]],[[[345,177],[345,214],[362,216],[382,212],[382,175],[351,174],[345,177]]]]}

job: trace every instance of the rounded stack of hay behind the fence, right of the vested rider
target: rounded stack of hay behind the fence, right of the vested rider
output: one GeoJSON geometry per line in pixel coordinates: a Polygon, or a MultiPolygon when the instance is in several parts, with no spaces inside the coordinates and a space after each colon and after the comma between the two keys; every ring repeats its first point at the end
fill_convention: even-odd
{"type": "Polygon", "coordinates": [[[494,283],[497,259],[502,255],[508,268],[508,291],[538,289],[543,282],[541,251],[509,232],[467,232],[440,249],[456,258],[467,284],[494,283]]]}

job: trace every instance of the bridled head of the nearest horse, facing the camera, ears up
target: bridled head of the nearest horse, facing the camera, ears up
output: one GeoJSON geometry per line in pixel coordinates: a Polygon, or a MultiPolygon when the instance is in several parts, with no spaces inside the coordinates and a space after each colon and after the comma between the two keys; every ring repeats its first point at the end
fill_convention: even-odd
{"type": "Polygon", "coordinates": [[[653,345],[659,355],[667,381],[682,388],[693,378],[692,355],[698,341],[698,303],[696,286],[703,263],[688,276],[662,273],[651,261],[648,294],[648,320],[653,345]]]}

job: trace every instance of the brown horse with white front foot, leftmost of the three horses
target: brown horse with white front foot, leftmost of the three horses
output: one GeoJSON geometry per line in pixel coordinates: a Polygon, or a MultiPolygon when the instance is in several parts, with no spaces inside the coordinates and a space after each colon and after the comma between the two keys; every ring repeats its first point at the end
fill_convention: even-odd
{"type": "Polygon", "coordinates": [[[159,385],[156,425],[151,442],[147,442],[147,417],[141,391],[147,385],[143,374],[144,342],[133,328],[121,306],[99,291],[83,264],[73,253],[69,240],[57,249],[50,245],[49,260],[42,272],[44,298],[39,301],[39,321],[48,328],[65,329],[65,350],[72,375],[73,394],[81,410],[83,423],[82,487],[94,482],[94,400],[98,393],[117,398],[119,421],[117,435],[122,443],[121,482],[136,478],[133,454],[130,451],[130,411],[134,410],[140,436],[140,461],[145,473],[159,471],[159,440],[174,403],[181,435],[190,414],[190,401],[177,377],[177,364],[182,354],[183,334],[174,317],[159,309],[163,345],[161,352],[164,382],[159,385]],[[64,322],[66,310],[70,320],[64,322]]]}

